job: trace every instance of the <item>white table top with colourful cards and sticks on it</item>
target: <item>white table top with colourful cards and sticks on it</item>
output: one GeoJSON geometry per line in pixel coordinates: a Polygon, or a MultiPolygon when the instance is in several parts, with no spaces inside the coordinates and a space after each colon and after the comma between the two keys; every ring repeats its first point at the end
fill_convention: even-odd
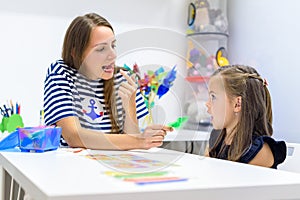
{"type": "MultiPolygon", "coordinates": [[[[0,164],[37,200],[300,198],[300,174],[159,148],[80,153],[65,150],[1,152],[0,164]],[[83,156],[85,153],[134,154],[160,160],[166,165],[151,168],[151,171],[169,171],[176,176],[187,177],[188,181],[136,185],[104,174],[116,168],[89,159],[83,156]]],[[[135,171],[141,169],[136,168],[135,171]]]]}

